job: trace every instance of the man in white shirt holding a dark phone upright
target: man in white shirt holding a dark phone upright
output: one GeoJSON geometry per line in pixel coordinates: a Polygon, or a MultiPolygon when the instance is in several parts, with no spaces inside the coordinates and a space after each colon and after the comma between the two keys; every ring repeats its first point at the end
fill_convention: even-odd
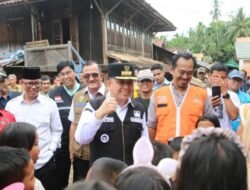
{"type": "MultiPolygon", "coordinates": [[[[222,128],[232,128],[231,121],[237,119],[240,100],[236,93],[228,90],[228,69],[224,64],[216,63],[210,69],[209,82],[211,86],[220,86],[221,96],[212,96],[214,113],[222,128]]],[[[212,90],[207,89],[212,95],[212,90]]]]}

